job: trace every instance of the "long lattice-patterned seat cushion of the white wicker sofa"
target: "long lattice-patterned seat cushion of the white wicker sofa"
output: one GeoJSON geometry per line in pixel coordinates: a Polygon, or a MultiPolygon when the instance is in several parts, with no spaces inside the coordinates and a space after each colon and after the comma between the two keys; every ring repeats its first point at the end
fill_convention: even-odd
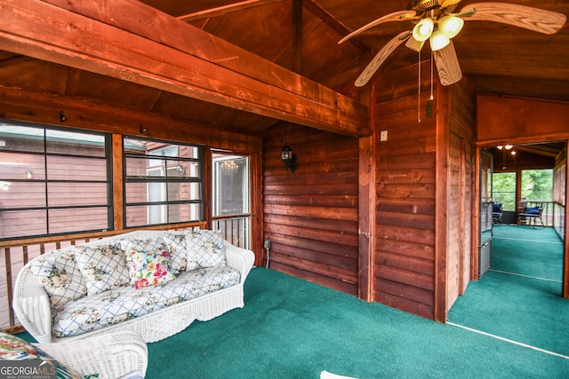
{"type": "Polygon", "coordinates": [[[175,280],[147,288],[112,288],[68,302],[54,312],[52,334],[77,336],[155,312],[172,304],[235,286],[241,274],[228,266],[181,272],[175,280]]]}

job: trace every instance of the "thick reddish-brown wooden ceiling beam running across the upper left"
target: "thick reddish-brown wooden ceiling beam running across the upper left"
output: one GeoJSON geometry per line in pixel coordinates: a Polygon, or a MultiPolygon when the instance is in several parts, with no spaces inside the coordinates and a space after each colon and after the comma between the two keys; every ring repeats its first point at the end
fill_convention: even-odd
{"type": "Polygon", "coordinates": [[[361,137],[369,110],[134,0],[0,0],[0,49],[361,137]]]}

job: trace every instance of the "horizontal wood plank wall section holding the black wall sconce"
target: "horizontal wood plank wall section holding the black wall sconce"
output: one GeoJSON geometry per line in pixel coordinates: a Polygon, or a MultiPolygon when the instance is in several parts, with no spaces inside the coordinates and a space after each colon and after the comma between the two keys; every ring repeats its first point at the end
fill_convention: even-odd
{"type": "Polygon", "coordinates": [[[358,140],[299,125],[263,138],[263,233],[269,267],[357,296],[358,140]],[[287,143],[298,168],[284,170],[287,143]]]}

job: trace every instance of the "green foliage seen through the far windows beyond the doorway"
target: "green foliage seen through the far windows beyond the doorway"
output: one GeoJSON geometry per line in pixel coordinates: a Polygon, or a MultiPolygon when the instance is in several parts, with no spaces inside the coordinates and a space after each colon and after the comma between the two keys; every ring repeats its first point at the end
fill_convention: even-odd
{"type": "MultiPolygon", "coordinates": [[[[495,173],[493,201],[501,202],[503,210],[516,211],[516,173],[495,173]]],[[[551,201],[553,170],[522,170],[522,197],[530,201],[551,201]]]]}

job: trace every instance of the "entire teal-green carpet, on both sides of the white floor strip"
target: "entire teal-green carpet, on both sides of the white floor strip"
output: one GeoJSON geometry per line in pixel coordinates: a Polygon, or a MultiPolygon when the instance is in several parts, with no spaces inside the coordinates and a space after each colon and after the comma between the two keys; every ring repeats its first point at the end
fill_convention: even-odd
{"type": "Polygon", "coordinates": [[[500,271],[469,284],[448,324],[254,268],[244,308],[148,343],[147,378],[317,379],[323,370],[360,379],[569,377],[557,236],[549,228],[494,231],[492,270],[500,271]],[[537,248],[527,248],[529,236],[537,248]],[[513,269],[531,277],[504,273],[513,269]]]}

